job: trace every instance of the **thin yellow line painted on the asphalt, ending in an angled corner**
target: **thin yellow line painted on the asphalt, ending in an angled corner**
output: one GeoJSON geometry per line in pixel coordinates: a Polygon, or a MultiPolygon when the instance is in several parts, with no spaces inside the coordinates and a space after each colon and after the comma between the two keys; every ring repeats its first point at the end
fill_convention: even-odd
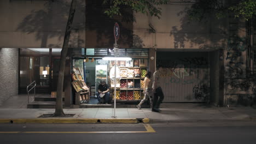
{"type": "Polygon", "coordinates": [[[155,133],[149,124],[143,124],[147,131],[0,131],[0,134],[96,134],[96,133],[155,133]]]}

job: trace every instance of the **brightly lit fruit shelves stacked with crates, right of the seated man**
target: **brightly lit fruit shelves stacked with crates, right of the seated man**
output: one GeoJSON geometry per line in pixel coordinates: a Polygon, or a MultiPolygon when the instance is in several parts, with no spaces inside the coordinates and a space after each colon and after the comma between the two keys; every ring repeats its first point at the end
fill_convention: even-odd
{"type": "MultiPolygon", "coordinates": [[[[111,65],[110,67],[114,67],[111,65]]],[[[120,87],[117,87],[117,102],[139,101],[143,99],[144,77],[147,74],[147,59],[133,59],[126,61],[125,65],[118,65],[120,69],[120,87]],[[142,63],[143,62],[143,63],[142,63]],[[132,67],[131,67],[132,66],[132,67]]],[[[114,99],[114,87],[112,98],[114,99]]]]}

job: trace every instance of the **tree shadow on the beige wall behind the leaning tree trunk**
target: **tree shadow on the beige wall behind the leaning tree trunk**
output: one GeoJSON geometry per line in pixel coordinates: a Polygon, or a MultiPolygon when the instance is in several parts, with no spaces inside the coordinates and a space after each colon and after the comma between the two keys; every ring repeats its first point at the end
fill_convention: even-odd
{"type": "MultiPolygon", "coordinates": [[[[32,2],[33,4],[33,2],[32,2]]],[[[37,3],[38,4],[38,3],[37,3]]],[[[45,1],[42,2],[42,9],[33,9],[16,28],[17,31],[24,32],[26,34],[36,35],[36,40],[40,40],[40,47],[62,47],[67,18],[69,14],[70,4],[65,1],[45,1]],[[49,42],[50,38],[55,38],[59,41],[49,42]]],[[[40,6],[42,6],[40,5],[40,6]]],[[[76,32],[77,29],[85,29],[83,21],[76,21],[79,17],[84,17],[85,4],[82,0],[77,0],[77,8],[75,11],[73,25],[71,27],[72,32],[76,32]]],[[[71,32],[71,35],[72,35],[71,32]]],[[[81,45],[84,43],[83,39],[77,39],[78,37],[71,37],[69,45],[81,45]]]]}

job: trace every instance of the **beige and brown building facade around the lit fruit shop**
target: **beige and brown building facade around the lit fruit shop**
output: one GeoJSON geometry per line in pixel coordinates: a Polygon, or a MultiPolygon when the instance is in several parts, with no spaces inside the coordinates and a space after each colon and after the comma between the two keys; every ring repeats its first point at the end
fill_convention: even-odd
{"type": "MultiPolygon", "coordinates": [[[[11,95],[26,93],[26,86],[34,80],[38,93],[56,91],[70,3],[0,2],[0,104],[11,95]],[[42,71],[47,71],[46,77],[42,71]]],[[[124,56],[147,59],[152,72],[156,65],[164,65],[164,102],[253,103],[255,21],[208,17],[191,22],[185,13],[191,4],[171,1],[161,5],[161,19],[129,9],[126,16],[110,19],[102,13],[102,1],[78,0],[66,61],[65,105],[72,104],[70,73],[75,63],[87,57],[112,56],[115,22],[120,26],[118,44],[124,56]]]]}

